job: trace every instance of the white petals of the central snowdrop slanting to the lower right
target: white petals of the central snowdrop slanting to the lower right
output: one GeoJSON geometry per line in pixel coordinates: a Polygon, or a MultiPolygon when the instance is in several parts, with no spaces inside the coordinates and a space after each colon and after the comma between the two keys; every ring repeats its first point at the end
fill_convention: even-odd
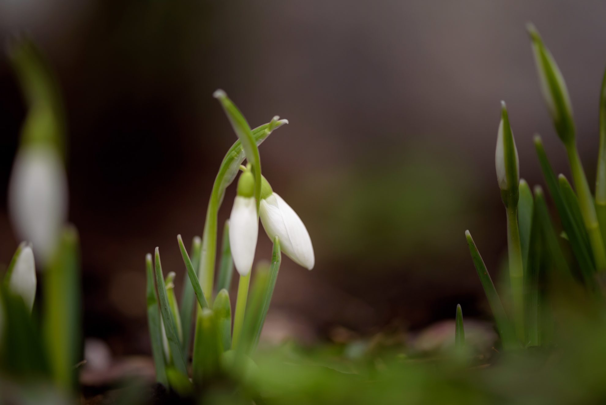
{"type": "Polygon", "coordinates": [[[281,196],[272,193],[261,200],[259,215],[267,236],[273,240],[277,235],[280,239],[282,252],[295,263],[313,269],[315,257],[311,238],[295,210],[281,196]]]}

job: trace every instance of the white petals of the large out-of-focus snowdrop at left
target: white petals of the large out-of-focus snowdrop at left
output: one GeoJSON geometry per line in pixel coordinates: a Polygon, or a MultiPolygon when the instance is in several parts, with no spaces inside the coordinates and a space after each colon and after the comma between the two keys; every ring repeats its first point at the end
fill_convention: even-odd
{"type": "Polygon", "coordinates": [[[47,263],[67,218],[67,178],[61,156],[45,146],[19,150],[8,189],[8,209],[20,239],[47,263]]]}

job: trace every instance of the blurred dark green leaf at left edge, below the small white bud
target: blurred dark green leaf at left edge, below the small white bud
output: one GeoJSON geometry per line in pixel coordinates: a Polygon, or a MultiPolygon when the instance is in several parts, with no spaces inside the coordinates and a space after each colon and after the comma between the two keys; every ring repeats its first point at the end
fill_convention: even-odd
{"type": "Polygon", "coordinates": [[[48,378],[50,369],[40,330],[23,298],[0,284],[0,365],[11,377],[48,378]]]}

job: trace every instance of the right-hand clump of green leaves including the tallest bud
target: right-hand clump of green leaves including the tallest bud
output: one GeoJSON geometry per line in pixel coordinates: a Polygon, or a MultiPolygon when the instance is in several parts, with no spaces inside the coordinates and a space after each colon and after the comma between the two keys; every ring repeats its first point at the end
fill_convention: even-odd
{"type": "Polygon", "coordinates": [[[604,310],[601,275],[606,270],[606,75],[600,99],[600,150],[594,198],[576,147],[574,120],[564,78],[536,28],[529,25],[528,32],[541,90],[556,133],[567,151],[574,188],[564,175],[556,176],[541,138],[536,135],[534,147],[562,232],[558,234],[551,221],[541,186],[535,186],[533,193],[522,179],[519,182],[518,215],[514,217],[519,229],[524,274],[522,336],[516,337],[512,332],[513,329],[518,330],[517,325],[516,328],[512,326],[478,249],[470,233],[466,232],[471,257],[505,349],[554,344],[554,315],[550,304],[554,286],[579,286],[590,298],[589,305],[604,310]]]}

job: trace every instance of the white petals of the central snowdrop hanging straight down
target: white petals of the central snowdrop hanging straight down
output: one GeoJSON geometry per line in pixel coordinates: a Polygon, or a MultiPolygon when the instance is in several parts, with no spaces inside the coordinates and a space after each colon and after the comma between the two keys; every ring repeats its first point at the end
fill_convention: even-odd
{"type": "Polygon", "coordinates": [[[250,273],[253,267],[258,235],[255,198],[237,196],[229,219],[229,243],[233,264],[242,276],[250,273]]]}

